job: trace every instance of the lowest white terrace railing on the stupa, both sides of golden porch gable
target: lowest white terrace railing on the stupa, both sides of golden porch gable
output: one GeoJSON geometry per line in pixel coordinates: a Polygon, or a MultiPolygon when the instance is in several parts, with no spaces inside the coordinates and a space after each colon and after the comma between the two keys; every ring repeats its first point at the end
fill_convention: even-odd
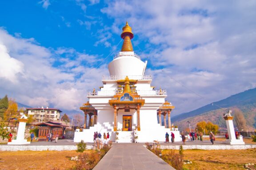
{"type": "MultiPolygon", "coordinates": [[[[166,95],[166,90],[135,90],[138,95],[149,96],[149,95],[166,95]]],[[[111,91],[88,91],[88,96],[114,96],[117,93],[122,93],[120,90],[111,91]]]]}

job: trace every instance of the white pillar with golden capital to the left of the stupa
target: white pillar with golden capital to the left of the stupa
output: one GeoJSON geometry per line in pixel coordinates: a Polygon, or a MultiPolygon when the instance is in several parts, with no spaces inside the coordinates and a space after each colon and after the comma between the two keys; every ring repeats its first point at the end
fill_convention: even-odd
{"type": "Polygon", "coordinates": [[[26,128],[26,123],[28,122],[28,119],[18,119],[19,120],[19,128],[17,133],[16,140],[12,140],[12,142],[8,142],[8,145],[24,145],[24,144],[30,144],[30,142],[27,142],[27,139],[24,139],[24,133],[26,128]]]}

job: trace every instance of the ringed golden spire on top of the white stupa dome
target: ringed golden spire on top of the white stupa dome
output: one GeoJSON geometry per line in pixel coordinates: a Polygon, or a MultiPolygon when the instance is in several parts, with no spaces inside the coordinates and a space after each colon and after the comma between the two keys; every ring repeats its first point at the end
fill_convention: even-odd
{"type": "Polygon", "coordinates": [[[126,25],[123,27],[123,32],[121,34],[121,38],[124,39],[124,43],[121,51],[133,51],[131,39],[133,38],[132,28],[128,25],[126,21],[126,25]]]}

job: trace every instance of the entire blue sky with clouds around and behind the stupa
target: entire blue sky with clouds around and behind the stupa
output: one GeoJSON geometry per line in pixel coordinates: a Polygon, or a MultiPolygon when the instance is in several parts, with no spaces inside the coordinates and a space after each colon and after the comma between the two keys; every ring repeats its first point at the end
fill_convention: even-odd
{"type": "Polygon", "coordinates": [[[191,111],[256,87],[255,9],[254,0],[1,1],[0,97],[79,112],[128,21],[152,85],[167,89],[174,115],[191,111]]]}

